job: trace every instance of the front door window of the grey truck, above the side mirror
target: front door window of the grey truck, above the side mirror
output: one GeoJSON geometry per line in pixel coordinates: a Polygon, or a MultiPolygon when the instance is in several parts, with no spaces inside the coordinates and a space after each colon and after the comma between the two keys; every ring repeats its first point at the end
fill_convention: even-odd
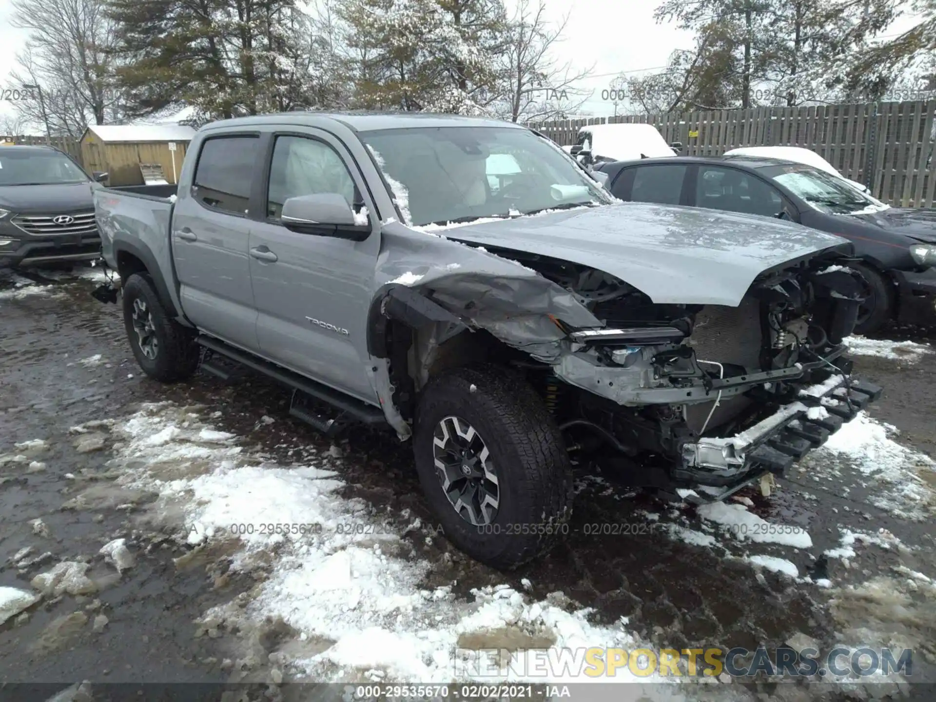
{"type": "Polygon", "coordinates": [[[324,141],[305,137],[277,137],[270,165],[267,216],[278,218],[289,197],[338,193],[355,207],[357,188],[339,156],[324,141]]]}

